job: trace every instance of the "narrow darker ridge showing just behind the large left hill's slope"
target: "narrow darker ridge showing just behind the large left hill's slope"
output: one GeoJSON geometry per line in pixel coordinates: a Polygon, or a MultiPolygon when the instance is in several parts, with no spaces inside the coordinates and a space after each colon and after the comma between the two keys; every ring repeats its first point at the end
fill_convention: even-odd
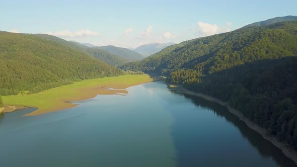
{"type": "Polygon", "coordinates": [[[47,34],[31,34],[31,35],[42,37],[44,39],[51,40],[53,42],[57,42],[59,44],[68,46],[68,47],[70,47],[72,49],[79,50],[81,52],[84,52],[84,53],[86,53],[88,55],[91,55],[91,56],[105,62],[106,64],[109,64],[109,65],[112,65],[112,66],[115,66],[115,67],[117,67],[118,65],[129,62],[128,60],[123,59],[123,58],[121,58],[121,57],[119,57],[117,55],[111,54],[111,53],[109,53],[109,52],[107,52],[105,50],[95,48],[95,47],[90,48],[88,46],[79,44],[77,42],[66,41],[64,39],[61,39],[61,38],[58,38],[58,37],[55,37],[55,36],[52,36],[52,35],[47,35],[47,34]]]}

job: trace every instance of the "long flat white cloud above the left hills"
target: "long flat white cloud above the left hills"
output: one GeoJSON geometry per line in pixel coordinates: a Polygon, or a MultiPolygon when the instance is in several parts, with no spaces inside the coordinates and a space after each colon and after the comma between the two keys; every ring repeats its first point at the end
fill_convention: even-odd
{"type": "Polygon", "coordinates": [[[57,37],[66,37],[66,38],[74,38],[74,37],[83,37],[83,36],[98,36],[100,33],[86,30],[80,30],[76,32],[72,31],[58,31],[58,32],[48,32],[47,34],[57,36],[57,37]]]}

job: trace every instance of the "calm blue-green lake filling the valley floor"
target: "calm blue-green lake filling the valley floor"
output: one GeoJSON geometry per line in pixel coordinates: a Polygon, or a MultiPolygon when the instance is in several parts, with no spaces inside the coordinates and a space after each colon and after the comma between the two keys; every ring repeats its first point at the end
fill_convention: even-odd
{"type": "Polygon", "coordinates": [[[0,115],[1,166],[295,166],[223,106],[162,81],[127,91],[0,115]]]}

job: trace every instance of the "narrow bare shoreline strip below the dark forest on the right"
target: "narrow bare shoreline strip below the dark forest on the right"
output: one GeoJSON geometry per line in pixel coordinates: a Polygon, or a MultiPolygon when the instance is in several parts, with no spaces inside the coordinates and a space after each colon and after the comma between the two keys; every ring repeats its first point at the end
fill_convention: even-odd
{"type": "Polygon", "coordinates": [[[169,85],[169,84],[167,84],[167,85],[170,89],[175,90],[176,93],[178,93],[178,94],[187,94],[187,95],[197,96],[197,97],[203,98],[205,100],[215,102],[222,106],[225,106],[229,110],[230,113],[236,115],[240,120],[244,121],[245,124],[249,128],[255,130],[256,132],[261,134],[263,138],[270,141],[273,145],[275,145],[276,147],[281,149],[281,151],[283,152],[283,154],[285,156],[292,159],[297,164],[297,152],[294,149],[287,147],[285,143],[279,142],[275,136],[269,135],[269,133],[267,132],[267,130],[265,128],[262,128],[261,126],[257,125],[256,123],[250,121],[240,111],[230,107],[230,105],[228,103],[223,102],[219,99],[213,98],[211,96],[207,96],[207,95],[204,95],[201,93],[189,91],[187,89],[184,89],[181,85],[169,85]]]}

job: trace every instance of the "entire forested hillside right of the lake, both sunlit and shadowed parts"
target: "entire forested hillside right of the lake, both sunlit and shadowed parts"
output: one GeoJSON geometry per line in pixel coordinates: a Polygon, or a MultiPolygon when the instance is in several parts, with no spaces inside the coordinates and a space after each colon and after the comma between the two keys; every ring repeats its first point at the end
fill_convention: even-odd
{"type": "Polygon", "coordinates": [[[185,41],[122,65],[167,75],[241,111],[297,149],[297,21],[185,41]]]}

